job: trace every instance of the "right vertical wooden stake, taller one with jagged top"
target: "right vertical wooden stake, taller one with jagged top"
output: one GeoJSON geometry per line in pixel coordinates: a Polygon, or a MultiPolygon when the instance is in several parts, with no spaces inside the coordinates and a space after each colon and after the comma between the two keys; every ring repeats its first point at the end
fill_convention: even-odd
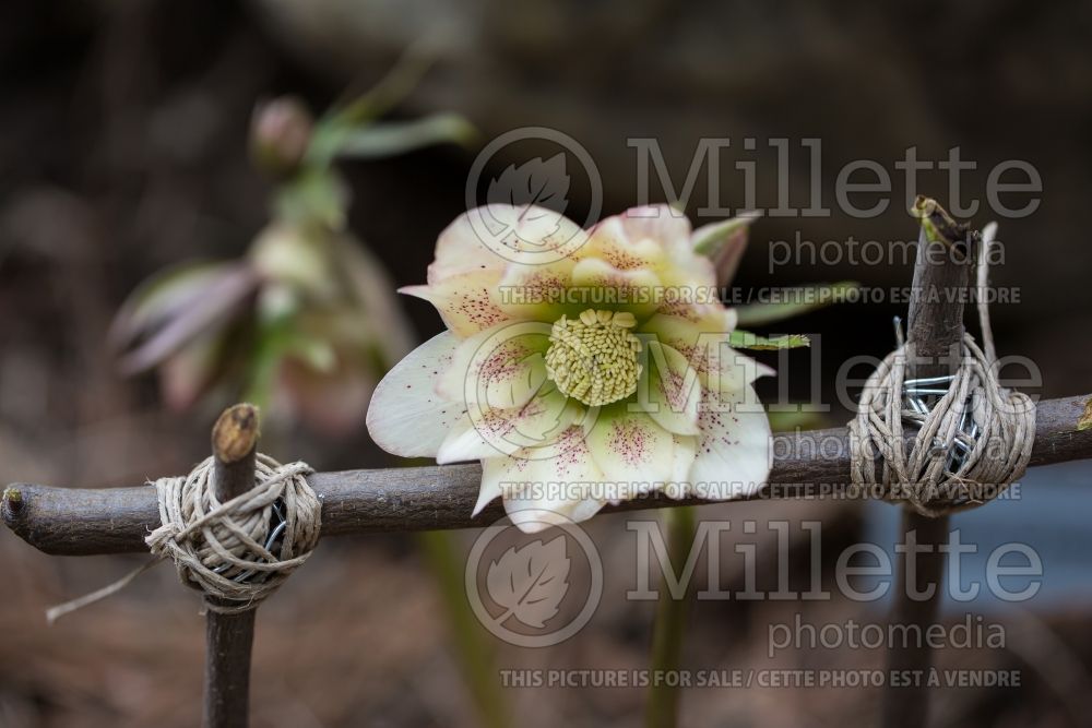
{"type": "MultiPolygon", "coordinates": [[[[918,198],[915,207],[923,214],[914,265],[914,297],[907,322],[906,378],[954,373],[962,355],[963,294],[970,284],[972,252],[966,226],[957,225],[934,202],[918,198]]],[[[917,551],[899,561],[899,578],[891,622],[916,624],[925,634],[936,622],[943,594],[946,553],[939,547],[948,540],[948,516],[930,518],[904,509],[902,544],[917,544],[917,551]],[[906,583],[906,560],[914,559],[913,584],[906,583]],[[916,596],[912,594],[916,592],[916,596]],[[928,594],[923,598],[922,595],[928,594]]],[[[929,689],[924,681],[933,664],[927,645],[888,646],[888,676],[901,671],[919,676],[913,687],[888,687],[883,704],[885,728],[922,728],[928,718],[929,689]]]]}

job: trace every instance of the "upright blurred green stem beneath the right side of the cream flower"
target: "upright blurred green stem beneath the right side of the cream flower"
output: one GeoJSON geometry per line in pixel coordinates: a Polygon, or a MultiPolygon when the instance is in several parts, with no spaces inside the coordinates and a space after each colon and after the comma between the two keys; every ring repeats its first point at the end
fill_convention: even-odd
{"type": "MultiPolygon", "coordinates": [[[[693,546],[695,514],[692,508],[664,509],[661,511],[667,530],[667,554],[672,569],[682,569],[693,546]],[[676,566],[677,564],[677,566],[676,566]]],[[[679,669],[682,653],[682,634],[686,626],[688,594],[676,599],[666,585],[661,585],[656,604],[656,621],[652,626],[652,676],[644,725],[648,728],[674,728],[678,723],[679,688],[677,681],[656,680],[667,671],[679,669]]]]}

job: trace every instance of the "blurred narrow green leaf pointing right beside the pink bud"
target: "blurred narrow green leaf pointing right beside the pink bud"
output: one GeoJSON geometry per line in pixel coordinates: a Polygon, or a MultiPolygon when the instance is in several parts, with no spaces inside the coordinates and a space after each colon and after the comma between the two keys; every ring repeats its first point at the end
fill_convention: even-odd
{"type": "Polygon", "coordinates": [[[311,153],[314,159],[382,159],[431,144],[468,145],[476,138],[477,130],[463,117],[437,114],[413,121],[323,129],[316,134],[311,153]]]}

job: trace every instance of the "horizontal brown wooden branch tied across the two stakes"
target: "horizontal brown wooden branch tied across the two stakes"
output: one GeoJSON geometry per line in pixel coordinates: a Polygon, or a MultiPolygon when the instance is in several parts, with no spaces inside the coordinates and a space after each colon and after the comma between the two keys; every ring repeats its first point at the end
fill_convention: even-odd
{"type": "MultiPolygon", "coordinates": [[[[1077,429],[1090,398],[1038,404],[1032,465],[1092,457],[1092,429],[1077,429]]],[[[847,479],[845,428],[776,434],[772,451],[771,486],[747,500],[815,497],[817,489],[836,489],[847,479]]],[[[342,536],[487,526],[503,509],[496,502],[471,518],[480,478],[480,467],[466,464],[316,473],[308,480],[322,499],[323,536],[342,536]]],[[[707,503],[656,494],[604,510],[707,503]]],[[[144,536],[159,525],[155,489],[146,485],[92,489],[16,484],[4,491],[2,512],[8,527],[27,544],[55,554],[144,551],[144,536]]]]}

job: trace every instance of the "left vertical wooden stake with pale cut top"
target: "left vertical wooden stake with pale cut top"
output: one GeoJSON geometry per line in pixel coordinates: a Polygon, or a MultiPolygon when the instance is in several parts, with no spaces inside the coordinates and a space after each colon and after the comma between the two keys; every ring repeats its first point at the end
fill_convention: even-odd
{"type": "MultiPolygon", "coordinates": [[[[213,484],[223,503],[254,486],[258,408],[235,405],[212,430],[213,484]]],[[[237,614],[210,611],[205,632],[204,725],[244,728],[250,701],[250,649],[254,610],[237,614]]]]}

